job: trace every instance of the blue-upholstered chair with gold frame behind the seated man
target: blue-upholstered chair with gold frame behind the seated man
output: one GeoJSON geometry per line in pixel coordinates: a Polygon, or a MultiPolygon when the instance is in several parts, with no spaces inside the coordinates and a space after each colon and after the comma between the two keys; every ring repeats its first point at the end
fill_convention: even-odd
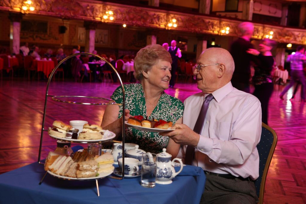
{"type": "Polygon", "coordinates": [[[259,177],[254,181],[259,204],[263,203],[263,193],[267,173],[277,143],[276,132],[268,125],[262,123],[260,141],[257,145],[259,154],[259,177]]]}

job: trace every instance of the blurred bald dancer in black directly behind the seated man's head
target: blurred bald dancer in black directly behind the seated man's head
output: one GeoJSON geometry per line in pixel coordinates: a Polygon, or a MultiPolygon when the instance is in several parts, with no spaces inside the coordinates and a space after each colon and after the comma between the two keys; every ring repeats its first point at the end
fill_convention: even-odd
{"type": "Polygon", "coordinates": [[[230,54],[235,62],[235,71],[231,80],[233,87],[240,91],[250,93],[251,60],[252,55],[246,51],[254,49],[250,39],[254,32],[254,25],[250,22],[242,22],[238,25],[240,37],[230,47],[230,54]]]}

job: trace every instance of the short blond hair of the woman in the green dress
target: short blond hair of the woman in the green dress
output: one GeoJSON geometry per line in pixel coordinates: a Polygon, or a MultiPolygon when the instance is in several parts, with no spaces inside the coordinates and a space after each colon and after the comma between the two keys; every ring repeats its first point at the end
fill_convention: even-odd
{"type": "Polygon", "coordinates": [[[141,81],[144,77],[142,72],[149,71],[158,60],[168,61],[172,64],[170,53],[161,45],[148,45],[140,49],[134,59],[135,78],[141,81]]]}

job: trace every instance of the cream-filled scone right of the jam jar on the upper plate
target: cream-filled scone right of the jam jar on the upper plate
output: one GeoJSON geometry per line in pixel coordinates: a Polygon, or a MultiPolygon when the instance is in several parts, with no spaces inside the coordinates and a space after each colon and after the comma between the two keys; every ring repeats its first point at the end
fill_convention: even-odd
{"type": "Polygon", "coordinates": [[[99,125],[84,124],[78,139],[103,139],[103,129],[99,125]]]}

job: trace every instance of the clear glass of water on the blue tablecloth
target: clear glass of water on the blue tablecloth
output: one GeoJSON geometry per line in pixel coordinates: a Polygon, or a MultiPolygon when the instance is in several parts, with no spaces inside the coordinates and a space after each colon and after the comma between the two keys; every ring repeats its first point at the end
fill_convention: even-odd
{"type": "Polygon", "coordinates": [[[141,182],[143,187],[155,187],[157,169],[157,155],[152,153],[144,153],[142,155],[141,165],[141,182]]]}

